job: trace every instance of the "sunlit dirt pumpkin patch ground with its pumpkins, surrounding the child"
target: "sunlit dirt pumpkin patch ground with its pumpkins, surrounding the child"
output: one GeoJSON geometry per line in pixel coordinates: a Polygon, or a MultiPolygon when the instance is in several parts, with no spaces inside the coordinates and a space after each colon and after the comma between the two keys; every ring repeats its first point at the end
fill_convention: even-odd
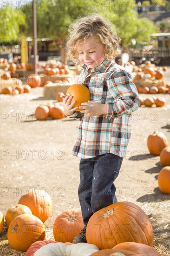
{"type": "MultiPolygon", "coordinates": [[[[166,83],[169,76],[167,67],[166,83]]],[[[131,140],[114,182],[118,204],[92,216],[88,244],[73,245],[83,228],[80,159],[71,155],[78,120],[52,117],[52,110],[62,112],[62,102],[44,97],[43,90],[0,94],[0,256],[56,250],[78,256],[170,255],[170,94],[140,94],[163,97],[165,104],[156,106],[152,98],[151,107],[132,114],[131,140]],[[46,118],[36,118],[36,109],[46,118]]]]}

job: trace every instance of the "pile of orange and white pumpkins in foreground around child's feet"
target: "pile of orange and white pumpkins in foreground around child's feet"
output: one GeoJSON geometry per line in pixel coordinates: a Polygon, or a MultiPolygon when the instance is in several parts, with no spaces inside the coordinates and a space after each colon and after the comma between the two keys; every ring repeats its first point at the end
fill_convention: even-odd
{"type": "MultiPolygon", "coordinates": [[[[87,243],[72,244],[84,228],[82,214],[67,210],[56,217],[54,240],[46,238],[43,222],[52,214],[52,201],[44,190],[31,190],[18,204],[7,210],[7,238],[15,250],[26,256],[160,256],[153,248],[153,229],[149,217],[132,202],[117,202],[98,210],[86,228],[87,243]]],[[[4,217],[0,215],[0,231],[4,217]]]]}

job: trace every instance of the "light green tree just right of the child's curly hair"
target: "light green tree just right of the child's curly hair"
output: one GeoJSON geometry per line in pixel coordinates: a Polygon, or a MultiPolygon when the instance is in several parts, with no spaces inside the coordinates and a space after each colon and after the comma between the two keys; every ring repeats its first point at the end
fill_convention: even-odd
{"type": "Polygon", "coordinates": [[[105,18],[108,18],[113,29],[121,38],[124,52],[127,52],[128,47],[132,47],[132,40],[137,41],[137,45],[143,42],[148,43],[150,34],[158,31],[154,23],[147,19],[138,19],[138,13],[135,11],[136,5],[134,0],[127,1],[105,1],[105,8],[101,8],[101,13],[105,18]],[[119,4],[118,4],[119,2],[119,4]],[[116,5],[117,4],[117,5],[116,5]]]}

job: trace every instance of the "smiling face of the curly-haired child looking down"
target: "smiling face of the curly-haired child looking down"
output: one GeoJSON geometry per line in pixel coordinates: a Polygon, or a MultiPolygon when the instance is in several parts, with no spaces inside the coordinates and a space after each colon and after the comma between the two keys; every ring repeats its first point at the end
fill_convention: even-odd
{"type": "Polygon", "coordinates": [[[78,44],[78,60],[90,68],[98,67],[104,60],[105,49],[96,36],[78,44]]]}

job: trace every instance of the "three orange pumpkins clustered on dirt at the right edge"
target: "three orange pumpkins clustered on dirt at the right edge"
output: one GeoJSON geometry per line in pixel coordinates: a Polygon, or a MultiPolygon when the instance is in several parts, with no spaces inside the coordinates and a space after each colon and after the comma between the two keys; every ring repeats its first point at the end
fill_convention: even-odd
{"type": "Polygon", "coordinates": [[[152,155],[160,155],[160,163],[164,166],[158,175],[159,189],[170,194],[170,146],[162,132],[154,132],[148,136],[147,146],[152,155]]]}

